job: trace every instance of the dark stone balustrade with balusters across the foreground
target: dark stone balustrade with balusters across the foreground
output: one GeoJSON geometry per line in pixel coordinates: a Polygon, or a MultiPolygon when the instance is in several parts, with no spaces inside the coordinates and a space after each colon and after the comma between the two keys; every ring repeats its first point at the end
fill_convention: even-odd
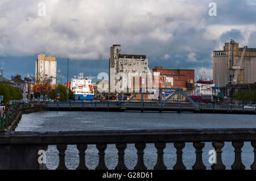
{"type": "MultiPolygon", "coordinates": [[[[57,169],[67,169],[65,151],[68,145],[76,145],[79,151],[79,165],[77,169],[88,169],[85,151],[88,145],[96,145],[98,150],[98,165],[96,170],[106,170],[105,150],[108,144],[115,144],[118,163],[115,169],[126,170],[124,159],[126,145],[134,144],[137,149],[137,165],[135,170],[144,170],[144,149],[146,144],[154,144],[157,162],[154,169],[167,169],[164,164],[164,149],[166,144],[173,144],[176,149],[176,164],[174,170],[189,169],[183,159],[183,149],[186,143],[192,142],[195,150],[195,161],[192,169],[205,170],[202,159],[205,143],[212,143],[216,151],[216,163],[211,169],[229,169],[222,163],[222,149],[225,142],[232,142],[234,148],[234,162],[231,169],[243,170],[242,147],[244,142],[251,142],[250,166],[256,169],[256,129],[170,129],[170,130],[138,130],[138,131],[76,131],[76,132],[1,132],[0,133],[0,169],[47,169],[46,163],[39,163],[39,151],[46,151],[49,145],[56,145],[59,151],[59,165],[57,169]],[[254,159],[254,160],[253,160],[254,159]]],[[[248,153],[246,153],[248,154],[248,153]]],[[[191,169],[191,168],[190,168],[191,169]]]]}

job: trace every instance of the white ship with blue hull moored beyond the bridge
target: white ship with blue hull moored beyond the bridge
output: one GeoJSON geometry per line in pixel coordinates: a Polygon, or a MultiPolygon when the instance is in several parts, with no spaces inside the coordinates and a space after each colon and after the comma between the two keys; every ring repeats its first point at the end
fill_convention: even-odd
{"type": "Polygon", "coordinates": [[[80,73],[79,77],[71,79],[71,90],[74,92],[75,100],[93,100],[94,89],[92,79],[84,78],[84,74],[80,73]]]}

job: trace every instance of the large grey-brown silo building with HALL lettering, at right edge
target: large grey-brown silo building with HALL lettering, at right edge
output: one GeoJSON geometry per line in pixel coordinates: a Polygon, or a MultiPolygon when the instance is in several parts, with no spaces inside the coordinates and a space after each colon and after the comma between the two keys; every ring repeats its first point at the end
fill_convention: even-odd
{"type": "Polygon", "coordinates": [[[217,87],[256,82],[256,48],[239,48],[234,40],[213,51],[213,83],[217,87]]]}

